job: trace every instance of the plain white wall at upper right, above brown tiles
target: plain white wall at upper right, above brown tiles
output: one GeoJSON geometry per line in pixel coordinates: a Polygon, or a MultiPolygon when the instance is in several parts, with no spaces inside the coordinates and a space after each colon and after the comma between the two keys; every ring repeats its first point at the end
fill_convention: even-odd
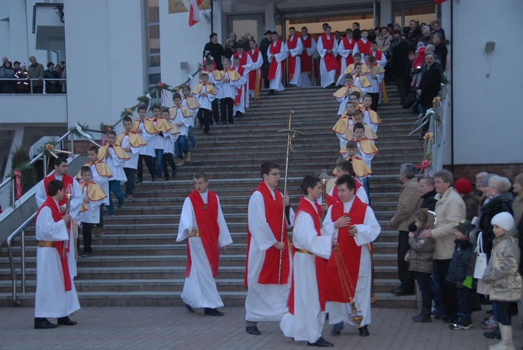
{"type": "Polygon", "coordinates": [[[502,29],[519,28],[523,1],[461,1],[453,9],[455,164],[521,163],[523,46],[502,29]],[[496,42],[490,54],[487,40],[496,42]]]}

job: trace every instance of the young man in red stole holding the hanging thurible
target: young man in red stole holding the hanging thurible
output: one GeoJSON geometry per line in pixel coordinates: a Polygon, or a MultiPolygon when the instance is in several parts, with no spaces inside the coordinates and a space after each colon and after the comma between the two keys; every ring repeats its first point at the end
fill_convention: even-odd
{"type": "Polygon", "coordinates": [[[367,337],[367,326],[371,322],[371,243],[379,236],[381,227],[372,208],[354,195],[356,180],[352,176],[340,176],[336,185],[340,201],[328,208],[324,220],[324,229],[338,242],[328,259],[325,274],[328,322],[334,325],[333,335],[340,334],[344,323],[356,326],[352,318],[352,312],[356,311],[351,305],[354,300],[363,317],[359,333],[367,337]]]}

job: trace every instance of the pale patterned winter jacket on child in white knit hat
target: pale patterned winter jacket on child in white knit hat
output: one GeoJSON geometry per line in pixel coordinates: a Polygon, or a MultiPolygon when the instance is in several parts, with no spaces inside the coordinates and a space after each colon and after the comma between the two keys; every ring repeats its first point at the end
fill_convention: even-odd
{"type": "Polygon", "coordinates": [[[489,264],[483,273],[483,282],[490,284],[491,300],[519,301],[522,278],[518,272],[520,248],[517,245],[517,231],[513,230],[497,237],[489,264]]]}

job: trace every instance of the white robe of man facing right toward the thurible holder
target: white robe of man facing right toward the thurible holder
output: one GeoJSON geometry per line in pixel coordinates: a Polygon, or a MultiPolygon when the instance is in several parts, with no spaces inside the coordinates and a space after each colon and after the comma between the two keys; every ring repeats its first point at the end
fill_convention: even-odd
{"type": "MultiPolygon", "coordinates": [[[[316,209],[312,202],[311,205],[316,209]]],[[[321,337],[325,323],[325,311],[321,311],[319,304],[316,256],[328,259],[332,246],[332,238],[325,231],[321,230],[321,236],[317,235],[314,220],[317,218],[312,218],[304,211],[296,214],[292,243],[294,247],[312,254],[294,253],[294,314],[286,312],[280,322],[280,329],[286,337],[311,343],[321,337]]]]}

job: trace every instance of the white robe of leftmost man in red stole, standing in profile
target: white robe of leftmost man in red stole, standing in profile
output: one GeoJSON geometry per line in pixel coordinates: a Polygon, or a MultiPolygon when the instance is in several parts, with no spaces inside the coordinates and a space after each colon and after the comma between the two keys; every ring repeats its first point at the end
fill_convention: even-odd
{"type": "MultiPolygon", "coordinates": [[[[56,201],[55,201],[56,203],[56,201]]],[[[58,203],[56,203],[58,207],[58,203]]],[[[67,241],[65,222],[54,222],[50,208],[42,208],[36,219],[38,241],[67,241]]],[[[66,317],[79,310],[75,282],[71,277],[71,290],[66,291],[58,250],[38,247],[36,250],[35,317],[66,317]]]]}

